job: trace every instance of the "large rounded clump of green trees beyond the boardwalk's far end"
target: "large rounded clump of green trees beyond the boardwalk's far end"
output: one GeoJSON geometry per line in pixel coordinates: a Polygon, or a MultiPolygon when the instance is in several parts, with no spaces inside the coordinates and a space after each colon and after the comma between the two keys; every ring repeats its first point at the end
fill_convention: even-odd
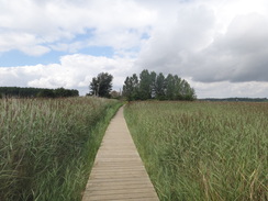
{"type": "Polygon", "coordinates": [[[177,75],[149,72],[147,69],[132,77],[126,77],[123,86],[123,96],[129,100],[194,100],[194,89],[177,75]]]}

